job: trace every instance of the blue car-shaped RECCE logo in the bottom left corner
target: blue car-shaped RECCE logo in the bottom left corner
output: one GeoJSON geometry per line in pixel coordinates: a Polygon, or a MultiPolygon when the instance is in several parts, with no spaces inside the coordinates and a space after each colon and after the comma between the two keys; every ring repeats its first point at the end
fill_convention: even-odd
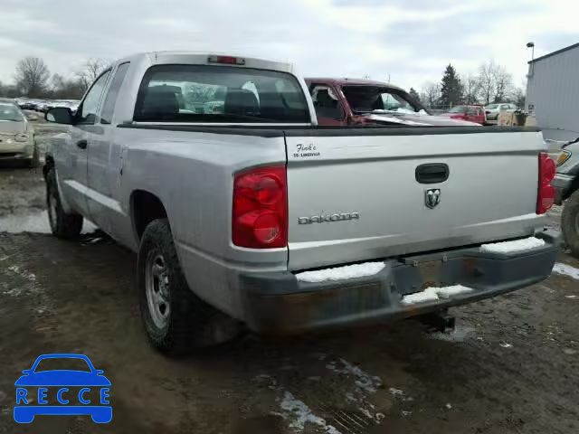
{"type": "MultiPolygon", "coordinates": [[[[66,361],[65,361],[66,362],[66,361]]],[[[78,360],[75,362],[79,362],[78,360]]],[[[82,362],[81,362],[82,363],[82,362]]],[[[84,364],[83,364],[84,366],[84,364]]],[[[14,420],[19,423],[30,423],[37,414],[50,415],[81,415],[86,414],[97,423],[108,423],[112,420],[112,407],[109,404],[109,386],[110,382],[103,375],[103,371],[94,369],[90,359],[83,354],[43,354],[33,363],[33,367],[24,370],[14,386],[16,386],[16,405],[14,406],[14,420]],[[46,359],[81,359],[86,362],[86,371],[77,370],[38,370],[38,363],[46,359]],[[48,387],[58,387],[57,401],[60,405],[48,405],[46,401],[48,387]],[[29,404],[26,399],[29,388],[38,387],[37,404],[29,404]],[[81,387],[78,395],[73,394],[68,387],[81,387]],[[100,405],[94,405],[94,398],[88,399],[87,394],[91,389],[100,389],[100,405]],[[69,401],[78,401],[81,405],[68,405],[69,401]],[[19,405],[21,404],[21,405],[19,405]]],[[[36,395],[33,395],[36,397],[36,395]]],[[[33,401],[33,400],[31,400],[33,401]]]]}

